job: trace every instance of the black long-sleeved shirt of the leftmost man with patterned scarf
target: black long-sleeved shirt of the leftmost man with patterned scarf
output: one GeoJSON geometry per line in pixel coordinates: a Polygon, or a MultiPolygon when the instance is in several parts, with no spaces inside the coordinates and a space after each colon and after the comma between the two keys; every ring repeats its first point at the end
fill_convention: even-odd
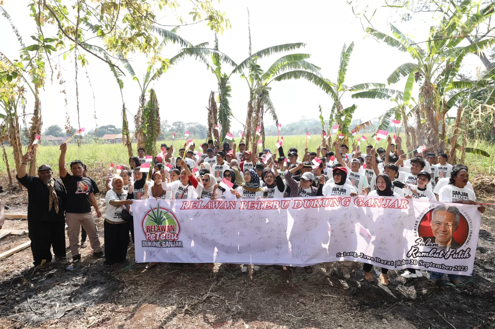
{"type": "Polygon", "coordinates": [[[28,221],[64,221],[65,205],[67,203],[67,192],[60,181],[55,179],[53,188],[58,199],[58,213],[55,213],[55,206],[51,205],[49,211],[49,190],[39,177],[25,175],[22,178],[15,176],[28,190],[28,221]]]}

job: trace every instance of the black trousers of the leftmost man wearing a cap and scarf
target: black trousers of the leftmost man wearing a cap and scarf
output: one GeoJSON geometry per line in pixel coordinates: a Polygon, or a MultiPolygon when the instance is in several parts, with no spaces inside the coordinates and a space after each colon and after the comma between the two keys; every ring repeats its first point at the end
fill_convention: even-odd
{"type": "Polygon", "coordinates": [[[55,256],[65,257],[65,222],[28,220],[28,230],[35,266],[42,259],[51,262],[50,247],[55,256]]]}

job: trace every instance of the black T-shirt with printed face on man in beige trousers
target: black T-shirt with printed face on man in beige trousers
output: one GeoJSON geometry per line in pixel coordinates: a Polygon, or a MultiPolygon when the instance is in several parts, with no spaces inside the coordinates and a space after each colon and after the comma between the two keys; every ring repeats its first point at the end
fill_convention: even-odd
{"type": "Polygon", "coordinates": [[[87,213],[91,212],[90,193],[93,193],[93,184],[88,177],[76,177],[67,173],[62,179],[67,189],[66,212],[87,213]]]}

